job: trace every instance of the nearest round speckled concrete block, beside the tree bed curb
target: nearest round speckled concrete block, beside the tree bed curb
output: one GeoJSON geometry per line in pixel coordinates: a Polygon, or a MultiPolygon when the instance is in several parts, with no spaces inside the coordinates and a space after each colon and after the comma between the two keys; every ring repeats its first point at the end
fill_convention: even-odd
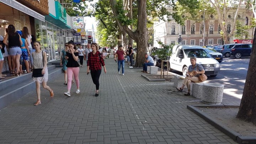
{"type": "Polygon", "coordinates": [[[220,105],[223,97],[224,85],[220,84],[203,84],[202,101],[208,105],[220,105]]]}

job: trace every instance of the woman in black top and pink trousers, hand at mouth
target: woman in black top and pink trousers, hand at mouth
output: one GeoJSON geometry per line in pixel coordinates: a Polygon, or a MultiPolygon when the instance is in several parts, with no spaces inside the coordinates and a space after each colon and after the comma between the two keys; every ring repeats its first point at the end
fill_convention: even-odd
{"type": "Polygon", "coordinates": [[[68,60],[66,64],[67,74],[68,74],[68,91],[64,93],[65,96],[70,95],[71,82],[74,74],[76,82],[76,94],[80,93],[79,89],[79,64],[78,64],[78,50],[76,49],[75,43],[73,41],[68,42],[68,52],[66,52],[65,59],[68,60]]]}

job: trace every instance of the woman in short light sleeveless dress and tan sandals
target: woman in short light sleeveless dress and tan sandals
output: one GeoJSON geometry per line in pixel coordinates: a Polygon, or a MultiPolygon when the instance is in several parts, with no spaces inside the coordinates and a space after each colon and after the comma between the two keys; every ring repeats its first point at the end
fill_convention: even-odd
{"type": "MultiPolygon", "coordinates": [[[[34,77],[33,80],[36,81],[36,92],[37,92],[37,102],[34,104],[35,106],[41,104],[40,96],[40,83],[42,83],[43,88],[50,92],[50,97],[54,96],[53,90],[47,85],[48,81],[48,69],[47,69],[47,55],[46,52],[41,50],[40,42],[34,42],[35,52],[32,53],[33,57],[33,68],[34,69],[42,69],[42,77],[34,77]]],[[[33,71],[34,72],[34,71],[33,71]]]]}

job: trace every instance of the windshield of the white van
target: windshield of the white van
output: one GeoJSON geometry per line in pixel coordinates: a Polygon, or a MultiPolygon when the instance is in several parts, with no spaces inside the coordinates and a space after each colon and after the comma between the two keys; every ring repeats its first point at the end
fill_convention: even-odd
{"type": "Polygon", "coordinates": [[[188,58],[211,58],[210,54],[204,49],[184,49],[184,52],[188,58]]]}

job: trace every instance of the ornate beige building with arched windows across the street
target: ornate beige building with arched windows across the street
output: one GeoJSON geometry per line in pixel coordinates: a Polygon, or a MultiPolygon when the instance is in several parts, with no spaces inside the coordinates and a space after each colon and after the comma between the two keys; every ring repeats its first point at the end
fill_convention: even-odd
{"type": "MultiPolygon", "coordinates": [[[[227,30],[228,33],[232,30],[232,25],[234,23],[235,10],[228,12],[227,19],[227,30]]],[[[189,16],[189,14],[184,14],[183,16],[189,16]]],[[[242,5],[238,13],[237,20],[241,21],[243,25],[250,25],[250,19],[253,16],[252,11],[248,10],[245,5],[242,5]]],[[[218,21],[217,15],[210,15],[203,21],[203,12],[201,15],[202,21],[196,22],[193,20],[186,20],[185,25],[181,26],[175,22],[172,18],[171,21],[160,21],[154,23],[154,47],[160,47],[158,41],[164,42],[166,44],[175,43],[178,44],[178,37],[182,37],[181,43],[183,45],[208,45],[208,44],[224,44],[224,41],[220,35],[221,27],[218,21]],[[205,30],[204,30],[205,23],[205,30]],[[203,37],[204,33],[204,37],[203,37]],[[203,38],[205,43],[203,43],[203,38]]],[[[206,17],[206,16],[205,16],[206,17]]],[[[248,30],[248,39],[253,38],[254,30],[248,30]]],[[[230,42],[235,38],[230,38],[230,42]]]]}

